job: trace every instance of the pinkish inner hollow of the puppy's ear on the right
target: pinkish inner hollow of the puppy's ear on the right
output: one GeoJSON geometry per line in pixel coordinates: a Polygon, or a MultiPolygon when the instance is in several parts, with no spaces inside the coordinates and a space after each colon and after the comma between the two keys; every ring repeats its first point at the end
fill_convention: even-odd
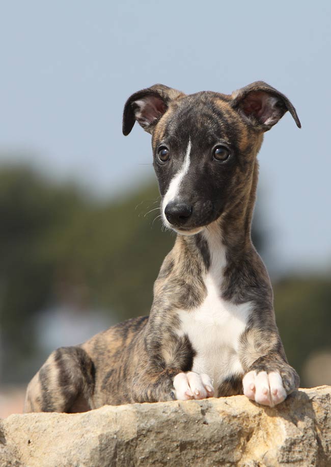
{"type": "Polygon", "coordinates": [[[261,123],[274,124],[282,117],[281,110],[276,107],[277,102],[277,97],[255,91],[243,99],[242,110],[247,117],[253,116],[261,123]]]}

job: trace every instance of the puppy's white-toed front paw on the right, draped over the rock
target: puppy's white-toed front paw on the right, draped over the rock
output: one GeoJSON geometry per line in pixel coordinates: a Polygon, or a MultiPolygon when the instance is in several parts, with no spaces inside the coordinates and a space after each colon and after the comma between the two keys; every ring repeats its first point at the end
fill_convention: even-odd
{"type": "Polygon", "coordinates": [[[252,401],[274,407],[286,399],[286,391],[279,372],[250,371],[243,377],[243,393],[252,401]]]}

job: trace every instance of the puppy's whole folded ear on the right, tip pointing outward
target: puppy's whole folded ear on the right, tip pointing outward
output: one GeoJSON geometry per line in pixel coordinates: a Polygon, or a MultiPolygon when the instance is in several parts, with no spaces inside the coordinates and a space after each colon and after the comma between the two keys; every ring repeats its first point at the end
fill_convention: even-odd
{"type": "Polygon", "coordinates": [[[232,106],[244,120],[267,132],[289,111],[301,128],[296,111],[284,94],[263,81],[256,81],[232,93],[232,106]]]}

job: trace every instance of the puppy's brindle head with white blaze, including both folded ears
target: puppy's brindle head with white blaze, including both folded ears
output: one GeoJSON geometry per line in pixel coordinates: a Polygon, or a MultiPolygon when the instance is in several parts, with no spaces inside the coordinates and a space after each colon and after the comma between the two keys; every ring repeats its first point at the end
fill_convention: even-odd
{"type": "Polygon", "coordinates": [[[163,85],[133,94],[124,108],[123,133],[138,121],[152,134],[164,223],[196,234],[247,199],[263,133],[287,110],[300,127],[289,100],[262,82],[231,96],[185,95],[163,85]]]}

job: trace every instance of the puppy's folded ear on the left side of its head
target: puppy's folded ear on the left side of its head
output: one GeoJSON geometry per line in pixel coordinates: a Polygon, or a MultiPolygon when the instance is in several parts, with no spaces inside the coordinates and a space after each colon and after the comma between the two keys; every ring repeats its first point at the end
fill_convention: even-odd
{"type": "Polygon", "coordinates": [[[127,136],[137,121],[146,132],[152,133],[155,124],[167,112],[169,103],[183,94],[163,84],[155,84],[135,92],[125,102],[123,111],[123,135],[127,136]]]}

